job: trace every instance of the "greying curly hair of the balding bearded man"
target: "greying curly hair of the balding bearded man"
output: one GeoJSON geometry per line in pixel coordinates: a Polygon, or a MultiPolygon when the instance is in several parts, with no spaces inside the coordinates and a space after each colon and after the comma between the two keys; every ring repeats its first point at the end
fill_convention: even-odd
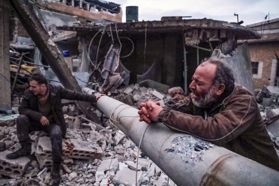
{"type": "Polygon", "coordinates": [[[234,88],[234,74],[232,73],[231,67],[228,63],[225,63],[222,59],[218,59],[217,57],[205,58],[202,63],[206,61],[217,66],[214,85],[217,86],[224,83],[227,90],[234,88]]]}

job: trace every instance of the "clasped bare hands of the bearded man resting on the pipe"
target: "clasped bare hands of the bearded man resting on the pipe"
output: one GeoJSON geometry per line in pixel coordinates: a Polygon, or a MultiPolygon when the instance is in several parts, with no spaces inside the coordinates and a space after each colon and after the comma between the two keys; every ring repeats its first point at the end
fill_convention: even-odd
{"type": "Polygon", "coordinates": [[[163,110],[160,103],[154,103],[153,101],[147,101],[146,103],[140,104],[141,110],[138,111],[140,115],[139,121],[151,123],[151,121],[158,122],[158,115],[163,110]]]}

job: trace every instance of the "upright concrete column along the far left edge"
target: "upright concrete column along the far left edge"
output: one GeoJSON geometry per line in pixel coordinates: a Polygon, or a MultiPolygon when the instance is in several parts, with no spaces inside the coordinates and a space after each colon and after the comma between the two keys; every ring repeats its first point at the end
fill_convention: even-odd
{"type": "Polygon", "coordinates": [[[10,41],[9,41],[10,12],[8,1],[0,0],[0,109],[11,110],[10,83],[10,41]]]}

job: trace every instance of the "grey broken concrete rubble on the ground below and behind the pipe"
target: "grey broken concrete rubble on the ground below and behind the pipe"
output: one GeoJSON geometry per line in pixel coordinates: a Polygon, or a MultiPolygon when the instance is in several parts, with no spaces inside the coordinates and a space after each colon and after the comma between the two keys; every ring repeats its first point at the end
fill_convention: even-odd
{"type": "MultiPolygon", "coordinates": [[[[170,95],[138,85],[119,89],[118,95],[113,97],[120,101],[129,101],[126,98],[129,97],[131,102],[128,103],[135,107],[148,100],[159,101],[161,105],[171,102],[170,95]]],[[[16,101],[13,103],[15,108],[19,106],[16,101]]],[[[94,112],[102,126],[86,119],[75,104],[64,104],[63,112],[68,129],[63,139],[60,185],[135,185],[136,171],[138,185],[167,185],[165,173],[100,110],[96,108],[94,112]]],[[[0,128],[0,184],[51,185],[51,141],[45,132],[30,133],[31,156],[16,160],[5,158],[7,153],[20,148],[15,125],[18,114],[12,116],[2,119],[0,128]]],[[[170,179],[169,185],[174,185],[170,179]]]]}

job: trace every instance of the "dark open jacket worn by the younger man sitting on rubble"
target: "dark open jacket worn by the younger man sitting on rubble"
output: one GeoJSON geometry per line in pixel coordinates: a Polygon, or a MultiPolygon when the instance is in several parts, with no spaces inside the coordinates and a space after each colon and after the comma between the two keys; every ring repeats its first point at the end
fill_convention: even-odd
{"type": "MultiPolygon", "coordinates": [[[[49,99],[51,101],[51,112],[54,115],[55,123],[61,128],[62,135],[65,137],[66,135],[66,122],[64,119],[61,99],[67,100],[76,100],[76,101],[89,101],[96,102],[96,96],[86,95],[80,92],[71,91],[61,86],[52,86],[49,85],[49,99]]],[[[42,113],[38,112],[39,104],[38,98],[33,94],[29,88],[24,92],[23,100],[20,103],[20,107],[18,108],[18,112],[21,115],[26,115],[30,119],[40,122],[42,113]]]]}

